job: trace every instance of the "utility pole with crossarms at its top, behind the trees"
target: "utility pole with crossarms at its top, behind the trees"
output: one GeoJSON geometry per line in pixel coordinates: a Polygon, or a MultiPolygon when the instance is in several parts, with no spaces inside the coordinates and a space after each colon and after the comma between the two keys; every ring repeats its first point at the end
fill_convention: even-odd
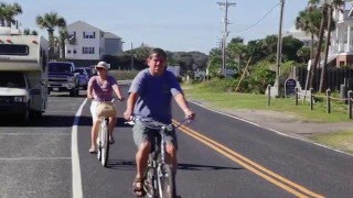
{"type": "Polygon", "coordinates": [[[228,7],[235,6],[236,3],[228,2],[228,0],[225,0],[225,2],[217,2],[221,7],[225,7],[225,14],[224,14],[224,32],[223,32],[223,38],[222,38],[222,74],[225,76],[225,65],[226,65],[226,58],[225,58],[225,48],[227,44],[227,36],[228,36],[228,7]]]}

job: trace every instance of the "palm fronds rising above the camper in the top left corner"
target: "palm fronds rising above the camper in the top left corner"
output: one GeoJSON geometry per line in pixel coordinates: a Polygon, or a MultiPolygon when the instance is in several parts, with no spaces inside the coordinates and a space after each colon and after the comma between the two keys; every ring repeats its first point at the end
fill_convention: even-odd
{"type": "Polygon", "coordinates": [[[19,3],[7,4],[0,2],[0,26],[15,24],[14,16],[20,13],[22,13],[22,8],[19,3]]]}

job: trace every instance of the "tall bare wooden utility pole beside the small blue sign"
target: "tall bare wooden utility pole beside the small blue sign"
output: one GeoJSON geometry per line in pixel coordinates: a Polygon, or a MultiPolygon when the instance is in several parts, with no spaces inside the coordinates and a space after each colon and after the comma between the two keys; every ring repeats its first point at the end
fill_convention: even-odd
{"type": "Polygon", "coordinates": [[[278,30],[278,40],[277,40],[277,72],[276,72],[276,81],[275,86],[277,88],[277,96],[280,97],[280,64],[281,64],[281,56],[282,56],[282,21],[284,21],[284,8],[285,8],[285,0],[280,0],[280,16],[279,16],[279,30],[278,30]]]}

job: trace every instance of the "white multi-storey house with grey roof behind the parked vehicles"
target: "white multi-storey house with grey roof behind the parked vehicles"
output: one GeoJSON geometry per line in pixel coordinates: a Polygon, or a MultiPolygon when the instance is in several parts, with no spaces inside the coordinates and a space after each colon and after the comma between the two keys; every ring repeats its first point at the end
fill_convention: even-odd
{"type": "Polygon", "coordinates": [[[104,32],[83,21],[67,25],[69,41],[65,45],[65,57],[73,61],[96,62],[104,55],[117,55],[122,52],[121,37],[104,32]]]}

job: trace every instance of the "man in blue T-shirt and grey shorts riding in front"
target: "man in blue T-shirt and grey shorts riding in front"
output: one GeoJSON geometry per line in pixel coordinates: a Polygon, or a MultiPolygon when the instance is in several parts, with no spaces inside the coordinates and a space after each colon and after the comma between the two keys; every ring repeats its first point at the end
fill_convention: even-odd
{"type": "MultiPolygon", "coordinates": [[[[132,80],[127,100],[125,119],[136,117],[138,120],[132,129],[133,141],[138,146],[136,153],[137,175],[133,182],[133,193],[145,196],[142,183],[143,173],[147,167],[148,156],[151,150],[151,141],[157,134],[148,129],[139,120],[153,119],[163,123],[171,123],[171,99],[172,97],[184,111],[185,117],[194,119],[195,113],[189,108],[183,91],[173,75],[167,70],[167,55],[161,48],[153,48],[147,59],[147,69],[141,70],[132,80]]],[[[173,131],[167,135],[168,162],[176,170],[176,135],[173,131]]]]}

